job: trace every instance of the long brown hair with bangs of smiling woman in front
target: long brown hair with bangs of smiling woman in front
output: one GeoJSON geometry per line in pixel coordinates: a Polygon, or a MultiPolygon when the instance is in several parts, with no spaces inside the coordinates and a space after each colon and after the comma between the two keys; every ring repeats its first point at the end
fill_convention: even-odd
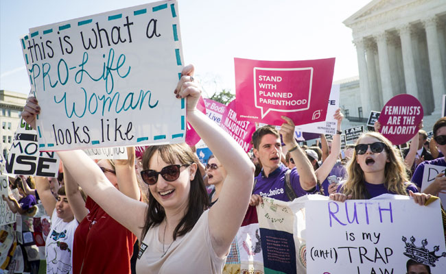
{"type": "MultiPolygon", "coordinates": [[[[150,159],[159,153],[161,159],[168,164],[176,164],[176,159],[181,164],[198,163],[198,158],[193,154],[191,148],[185,143],[174,145],[157,145],[150,146],[145,150],[143,155],[143,169],[150,169],[150,159]]],[[[209,199],[207,190],[204,186],[200,169],[197,169],[195,177],[190,182],[189,199],[187,201],[187,211],[180,223],[175,227],[174,240],[177,236],[183,236],[191,231],[193,226],[200,219],[201,214],[207,208],[209,199]]],[[[161,204],[154,199],[152,192],[148,192],[149,206],[145,211],[145,223],[141,232],[142,238],[145,237],[150,227],[159,225],[165,218],[165,210],[161,204]]]]}

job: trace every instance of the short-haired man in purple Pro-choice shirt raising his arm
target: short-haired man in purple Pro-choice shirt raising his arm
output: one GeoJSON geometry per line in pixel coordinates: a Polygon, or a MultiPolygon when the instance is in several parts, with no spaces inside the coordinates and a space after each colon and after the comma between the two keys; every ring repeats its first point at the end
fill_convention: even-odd
{"type": "Polygon", "coordinates": [[[280,132],[270,126],[257,129],[253,134],[253,151],[261,162],[261,173],[255,177],[253,195],[250,206],[257,206],[262,202],[261,197],[270,197],[281,201],[290,201],[285,192],[285,173],[288,170],[281,164],[283,142],[290,151],[296,167],[290,173],[290,184],[297,197],[316,191],[316,175],[312,164],[294,140],[294,123],[291,119],[282,116],[285,123],[281,125],[280,132]]]}

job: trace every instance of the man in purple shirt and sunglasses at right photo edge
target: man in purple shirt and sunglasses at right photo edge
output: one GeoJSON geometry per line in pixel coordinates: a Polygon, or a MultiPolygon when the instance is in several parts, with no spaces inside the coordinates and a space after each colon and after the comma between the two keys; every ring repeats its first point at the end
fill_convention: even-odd
{"type": "MultiPolygon", "coordinates": [[[[446,155],[446,117],[438,119],[438,121],[435,122],[432,131],[434,132],[434,140],[438,149],[441,151],[441,153],[443,153],[443,155],[446,155]]],[[[414,175],[412,176],[412,182],[414,182],[414,184],[416,184],[416,186],[419,188],[421,188],[421,183],[423,182],[425,164],[446,166],[446,161],[445,157],[442,157],[419,164],[415,169],[414,175]]],[[[432,184],[430,184],[430,186],[428,186],[423,192],[438,196],[438,193],[444,190],[446,190],[445,172],[438,174],[434,182],[432,182],[432,184]]]]}

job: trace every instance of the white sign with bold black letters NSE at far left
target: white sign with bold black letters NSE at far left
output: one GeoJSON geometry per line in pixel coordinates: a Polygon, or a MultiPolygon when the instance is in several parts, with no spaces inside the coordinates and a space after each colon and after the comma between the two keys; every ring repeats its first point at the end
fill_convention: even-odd
{"type": "Polygon", "coordinates": [[[21,119],[5,167],[9,174],[57,177],[59,158],[54,151],[38,151],[36,130],[21,119]]]}

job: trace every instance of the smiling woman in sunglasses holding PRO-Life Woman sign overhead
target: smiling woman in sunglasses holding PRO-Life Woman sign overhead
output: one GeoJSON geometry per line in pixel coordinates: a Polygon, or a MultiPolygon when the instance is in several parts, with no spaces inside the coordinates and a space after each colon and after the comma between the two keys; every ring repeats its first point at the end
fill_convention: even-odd
{"type": "MultiPolygon", "coordinates": [[[[139,237],[137,273],[222,273],[253,188],[254,165],[248,155],[196,109],[202,88],[193,82],[193,66],[185,66],[182,75],[176,97],[187,97],[189,123],[227,172],[219,202],[209,210],[198,159],[185,144],[145,151],[141,176],[149,185],[148,204],[119,192],[83,151],[58,152],[86,194],[139,237]]],[[[28,103],[22,113],[30,125],[39,113],[34,107],[28,103]]]]}

